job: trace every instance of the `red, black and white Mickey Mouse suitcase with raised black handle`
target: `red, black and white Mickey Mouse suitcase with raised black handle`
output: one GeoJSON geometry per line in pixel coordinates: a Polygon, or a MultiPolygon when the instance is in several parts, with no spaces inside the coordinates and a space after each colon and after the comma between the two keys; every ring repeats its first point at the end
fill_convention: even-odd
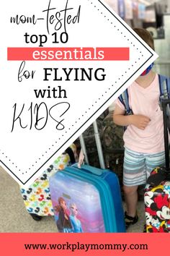
{"type": "Polygon", "coordinates": [[[170,233],[169,104],[169,99],[162,101],[166,167],[153,169],[144,195],[148,233],[170,233]]]}

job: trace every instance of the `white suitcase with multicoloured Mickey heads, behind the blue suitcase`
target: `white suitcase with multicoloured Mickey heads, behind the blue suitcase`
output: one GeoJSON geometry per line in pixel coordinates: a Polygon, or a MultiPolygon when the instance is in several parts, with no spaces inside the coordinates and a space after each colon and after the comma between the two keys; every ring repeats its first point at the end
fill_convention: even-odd
{"type": "Polygon", "coordinates": [[[69,163],[75,163],[75,158],[76,145],[72,144],[28,189],[20,187],[27,212],[35,221],[40,221],[42,216],[54,215],[50,199],[49,177],[65,168],[69,163]]]}

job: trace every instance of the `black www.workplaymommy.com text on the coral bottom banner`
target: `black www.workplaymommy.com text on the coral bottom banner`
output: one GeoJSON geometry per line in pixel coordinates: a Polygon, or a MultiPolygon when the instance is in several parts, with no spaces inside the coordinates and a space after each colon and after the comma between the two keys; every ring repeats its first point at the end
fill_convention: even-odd
{"type": "Polygon", "coordinates": [[[27,250],[31,249],[42,249],[42,250],[70,250],[75,252],[76,250],[83,250],[88,252],[89,250],[120,250],[125,252],[126,249],[131,250],[146,250],[148,249],[148,244],[81,244],[77,242],[75,244],[70,244],[66,242],[65,244],[24,244],[24,248],[27,250]]]}

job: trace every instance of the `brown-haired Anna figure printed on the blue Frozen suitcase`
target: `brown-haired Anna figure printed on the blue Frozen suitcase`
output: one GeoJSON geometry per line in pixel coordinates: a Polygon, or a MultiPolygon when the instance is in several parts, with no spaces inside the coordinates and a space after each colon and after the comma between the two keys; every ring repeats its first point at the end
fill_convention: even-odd
{"type": "Polygon", "coordinates": [[[58,198],[58,205],[55,206],[54,210],[56,213],[58,213],[58,220],[56,222],[58,231],[61,233],[71,233],[71,220],[66,211],[67,204],[63,197],[58,198]]]}

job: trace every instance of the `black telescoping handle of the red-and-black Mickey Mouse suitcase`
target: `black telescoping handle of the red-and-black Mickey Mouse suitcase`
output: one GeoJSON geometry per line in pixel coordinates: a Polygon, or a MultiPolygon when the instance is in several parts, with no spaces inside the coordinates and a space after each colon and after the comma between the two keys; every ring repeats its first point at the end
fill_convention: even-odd
{"type": "Polygon", "coordinates": [[[164,116],[164,144],[165,144],[165,161],[166,161],[166,170],[169,171],[169,105],[170,100],[161,100],[161,106],[163,108],[164,116]]]}

